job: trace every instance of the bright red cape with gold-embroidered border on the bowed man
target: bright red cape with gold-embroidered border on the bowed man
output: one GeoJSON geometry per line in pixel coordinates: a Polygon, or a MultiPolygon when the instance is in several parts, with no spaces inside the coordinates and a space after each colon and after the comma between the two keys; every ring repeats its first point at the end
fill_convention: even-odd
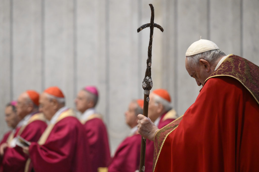
{"type": "Polygon", "coordinates": [[[157,132],[154,171],[259,171],[258,71],[228,56],[184,115],[157,132]]]}

